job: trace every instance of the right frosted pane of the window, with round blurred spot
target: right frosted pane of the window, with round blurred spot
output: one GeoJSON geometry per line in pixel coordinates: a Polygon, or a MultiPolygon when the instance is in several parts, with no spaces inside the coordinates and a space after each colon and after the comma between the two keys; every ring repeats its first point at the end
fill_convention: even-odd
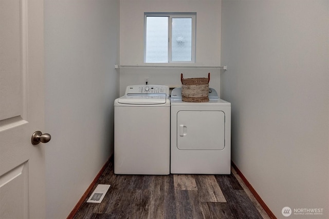
{"type": "Polygon", "coordinates": [[[172,61],[192,61],[192,18],[172,18],[172,61]]]}

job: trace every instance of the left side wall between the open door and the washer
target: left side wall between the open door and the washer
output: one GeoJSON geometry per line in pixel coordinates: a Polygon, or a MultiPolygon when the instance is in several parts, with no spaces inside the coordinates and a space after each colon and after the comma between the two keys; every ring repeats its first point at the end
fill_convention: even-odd
{"type": "Polygon", "coordinates": [[[46,0],[47,218],[66,218],[113,153],[119,1],[46,0]]]}

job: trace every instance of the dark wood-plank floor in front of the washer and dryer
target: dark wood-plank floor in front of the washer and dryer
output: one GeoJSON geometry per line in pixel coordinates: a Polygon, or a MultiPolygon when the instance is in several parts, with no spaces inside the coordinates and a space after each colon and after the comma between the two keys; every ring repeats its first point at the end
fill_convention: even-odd
{"type": "Polygon", "coordinates": [[[109,162],[98,184],[111,184],[102,203],[86,203],[94,188],[74,218],[268,218],[234,169],[230,175],[116,175],[109,162]]]}

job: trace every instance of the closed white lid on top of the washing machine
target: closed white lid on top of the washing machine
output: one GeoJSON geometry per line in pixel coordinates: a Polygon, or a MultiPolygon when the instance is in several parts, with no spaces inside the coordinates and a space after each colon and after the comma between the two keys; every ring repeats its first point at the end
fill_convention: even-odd
{"type": "Polygon", "coordinates": [[[118,103],[135,105],[165,104],[167,98],[167,95],[124,95],[118,98],[118,103]]]}

